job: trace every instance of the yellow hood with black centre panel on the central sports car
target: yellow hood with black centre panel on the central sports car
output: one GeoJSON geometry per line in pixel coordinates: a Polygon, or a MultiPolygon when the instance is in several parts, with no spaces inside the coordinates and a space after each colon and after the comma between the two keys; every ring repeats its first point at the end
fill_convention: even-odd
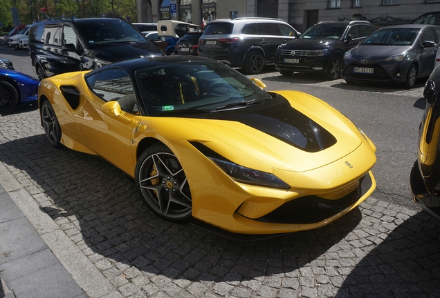
{"type": "MultiPolygon", "coordinates": [[[[349,119],[327,103],[302,92],[284,91],[279,94],[290,99],[287,104],[292,108],[287,108],[285,113],[276,109],[271,112],[271,108],[264,108],[263,112],[249,112],[241,117],[174,118],[172,135],[180,137],[175,141],[185,136],[183,139],[202,143],[241,166],[255,168],[255,164],[259,163],[261,166],[257,169],[266,172],[313,170],[342,159],[360,146],[367,146],[367,150],[374,156],[374,145],[363,137],[349,119]],[[286,119],[286,115],[293,110],[297,111],[293,114],[295,119],[286,119]],[[310,131],[304,132],[298,126],[298,117],[299,122],[306,123],[306,126],[316,123],[317,126],[311,127],[318,132],[315,135],[311,135],[310,131]],[[300,144],[293,141],[295,137],[300,144]],[[320,137],[324,139],[318,140],[315,143],[317,146],[311,150],[301,146],[302,142],[320,137]]],[[[164,126],[165,121],[159,120],[158,125],[164,126]],[[164,123],[159,124],[161,121],[164,123]]],[[[167,121],[169,123],[169,119],[167,121]]],[[[173,137],[166,136],[165,139],[173,141],[173,137]]],[[[358,160],[364,158],[367,157],[359,156],[358,160]]]]}

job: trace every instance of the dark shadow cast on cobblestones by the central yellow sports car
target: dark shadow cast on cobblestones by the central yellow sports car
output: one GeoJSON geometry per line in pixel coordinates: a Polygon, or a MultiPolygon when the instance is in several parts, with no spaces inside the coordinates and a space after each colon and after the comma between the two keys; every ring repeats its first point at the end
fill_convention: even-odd
{"type": "MultiPolygon", "coordinates": [[[[298,270],[331,250],[358,226],[356,208],[333,223],[266,241],[230,241],[153,215],[118,169],[93,155],[55,150],[45,136],[0,144],[0,160],[104,275],[134,266],[146,275],[188,281],[248,281],[298,270]],[[101,263],[102,264],[101,264],[101,263]]],[[[309,267],[310,268],[310,267],[309,267]]],[[[116,276],[115,276],[116,277],[116,276]]],[[[279,281],[280,282],[280,281],[279,281]]]]}

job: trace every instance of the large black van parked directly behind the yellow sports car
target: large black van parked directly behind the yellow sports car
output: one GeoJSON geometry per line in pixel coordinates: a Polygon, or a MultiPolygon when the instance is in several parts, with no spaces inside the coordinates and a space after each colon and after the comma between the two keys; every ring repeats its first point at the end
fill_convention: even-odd
{"type": "Polygon", "coordinates": [[[39,79],[139,57],[164,56],[124,19],[44,21],[30,28],[29,54],[39,79]]]}

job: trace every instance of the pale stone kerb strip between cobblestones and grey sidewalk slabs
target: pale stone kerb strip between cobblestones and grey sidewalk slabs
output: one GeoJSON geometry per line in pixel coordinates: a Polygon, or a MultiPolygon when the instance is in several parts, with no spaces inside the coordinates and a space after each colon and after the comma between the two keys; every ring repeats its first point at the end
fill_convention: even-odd
{"type": "Polygon", "coordinates": [[[62,266],[89,297],[118,292],[0,162],[0,184],[62,266]]]}

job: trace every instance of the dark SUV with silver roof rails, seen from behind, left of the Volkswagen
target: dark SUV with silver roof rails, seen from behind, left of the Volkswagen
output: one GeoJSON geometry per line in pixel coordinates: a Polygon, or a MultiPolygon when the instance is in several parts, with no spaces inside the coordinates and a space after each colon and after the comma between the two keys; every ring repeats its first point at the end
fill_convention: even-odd
{"type": "Polygon", "coordinates": [[[269,18],[218,19],[199,39],[199,56],[258,74],[273,64],[275,50],[300,34],[285,21],[269,18]]]}

